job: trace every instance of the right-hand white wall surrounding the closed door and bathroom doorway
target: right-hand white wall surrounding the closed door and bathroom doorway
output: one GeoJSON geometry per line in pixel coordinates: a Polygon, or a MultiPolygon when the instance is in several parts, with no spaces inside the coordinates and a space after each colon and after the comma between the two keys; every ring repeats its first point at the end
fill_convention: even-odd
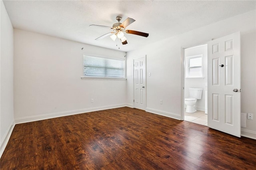
{"type": "MultiPolygon", "coordinates": [[[[146,55],[146,111],[181,119],[182,113],[182,48],[206,43],[212,38],[220,38],[234,32],[241,32],[242,93],[241,111],[253,113],[256,117],[256,54],[255,32],[256,11],[232,18],[146,45],[127,53],[127,102],[133,101],[133,58],[146,55]],[[148,76],[148,73],[151,76],[148,76]],[[163,100],[160,105],[159,100],[163,100]]],[[[256,138],[256,119],[247,120],[247,128],[242,134],[256,138]],[[248,131],[245,131],[248,130],[248,131]]]]}

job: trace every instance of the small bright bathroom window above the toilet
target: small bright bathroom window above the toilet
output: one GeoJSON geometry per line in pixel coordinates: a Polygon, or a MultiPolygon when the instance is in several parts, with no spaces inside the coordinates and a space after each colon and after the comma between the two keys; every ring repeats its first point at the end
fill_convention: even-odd
{"type": "Polygon", "coordinates": [[[203,77],[202,55],[189,56],[186,61],[186,78],[203,77]]]}

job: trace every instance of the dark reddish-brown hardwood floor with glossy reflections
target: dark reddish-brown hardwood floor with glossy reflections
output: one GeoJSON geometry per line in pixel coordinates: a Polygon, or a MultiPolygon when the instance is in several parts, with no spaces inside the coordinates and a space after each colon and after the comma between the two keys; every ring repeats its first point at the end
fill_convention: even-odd
{"type": "Polygon", "coordinates": [[[256,140],[128,107],[15,125],[12,169],[256,169],[256,140]]]}

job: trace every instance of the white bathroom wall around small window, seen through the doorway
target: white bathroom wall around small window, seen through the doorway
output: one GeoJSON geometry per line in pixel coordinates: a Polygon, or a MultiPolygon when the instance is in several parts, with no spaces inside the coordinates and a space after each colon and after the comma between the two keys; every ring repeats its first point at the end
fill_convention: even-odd
{"type": "MultiPolygon", "coordinates": [[[[186,48],[184,50],[184,61],[186,62],[186,57],[193,55],[202,54],[202,78],[186,78],[186,66],[184,67],[184,98],[189,96],[189,88],[202,88],[202,99],[197,100],[196,110],[204,111],[205,107],[205,89],[207,89],[207,44],[198,45],[195,47],[186,48]]],[[[186,105],[185,105],[186,108],[186,105]]]]}

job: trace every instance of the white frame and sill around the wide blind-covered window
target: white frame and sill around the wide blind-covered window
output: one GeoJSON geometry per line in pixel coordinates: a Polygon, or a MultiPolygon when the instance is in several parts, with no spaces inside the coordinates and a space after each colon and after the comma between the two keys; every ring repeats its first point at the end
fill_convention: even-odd
{"type": "Polygon", "coordinates": [[[81,77],[82,80],[126,80],[126,56],[124,56],[124,59],[118,58],[118,57],[106,57],[103,55],[94,55],[94,54],[88,54],[88,53],[83,53],[83,76],[81,77]],[[84,57],[98,57],[98,58],[104,58],[104,59],[114,59],[114,60],[119,60],[119,61],[124,61],[124,77],[92,77],[92,76],[86,76],[84,75],[84,57]]]}

